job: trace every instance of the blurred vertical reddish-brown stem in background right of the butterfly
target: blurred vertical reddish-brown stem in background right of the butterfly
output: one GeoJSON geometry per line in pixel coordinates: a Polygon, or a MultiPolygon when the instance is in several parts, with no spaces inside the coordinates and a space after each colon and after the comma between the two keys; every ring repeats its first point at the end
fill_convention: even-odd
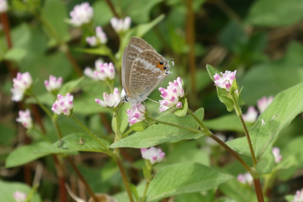
{"type": "Polygon", "coordinates": [[[189,60],[189,71],[191,77],[191,89],[193,95],[196,92],[196,58],[194,55],[194,41],[195,41],[195,34],[194,34],[194,11],[193,11],[193,2],[192,0],[187,0],[187,20],[186,20],[186,41],[189,44],[189,53],[188,53],[188,60],[189,60]]]}

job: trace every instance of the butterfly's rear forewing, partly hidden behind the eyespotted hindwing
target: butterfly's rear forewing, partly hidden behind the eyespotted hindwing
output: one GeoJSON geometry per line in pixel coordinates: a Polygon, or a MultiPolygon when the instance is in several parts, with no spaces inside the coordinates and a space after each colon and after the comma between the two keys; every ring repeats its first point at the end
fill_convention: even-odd
{"type": "Polygon", "coordinates": [[[148,44],[145,40],[138,38],[138,37],[132,37],[130,38],[130,42],[128,43],[128,46],[126,46],[123,55],[122,55],[122,84],[124,91],[130,95],[130,71],[132,68],[132,63],[135,60],[135,58],[138,56],[139,53],[141,53],[143,50],[154,50],[155,49],[148,44]]]}

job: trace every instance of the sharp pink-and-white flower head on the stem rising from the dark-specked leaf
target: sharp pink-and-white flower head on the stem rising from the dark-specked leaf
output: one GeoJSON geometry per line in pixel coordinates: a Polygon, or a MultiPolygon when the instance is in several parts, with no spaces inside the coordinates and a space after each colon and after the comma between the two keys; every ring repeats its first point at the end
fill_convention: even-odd
{"type": "Polygon", "coordinates": [[[74,104],[72,102],[73,96],[69,93],[66,96],[58,95],[58,100],[55,101],[51,110],[56,114],[64,114],[66,116],[71,115],[72,108],[74,104]]]}

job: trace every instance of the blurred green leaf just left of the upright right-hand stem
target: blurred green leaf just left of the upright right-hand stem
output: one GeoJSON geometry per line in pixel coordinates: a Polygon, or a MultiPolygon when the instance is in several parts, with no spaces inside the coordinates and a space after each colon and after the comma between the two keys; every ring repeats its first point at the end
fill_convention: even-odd
{"type": "MultiPolygon", "coordinates": [[[[203,123],[206,127],[212,130],[243,132],[241,122],[236,114],[228,114],[218,118],[205,120],[203,123]]],[[[250,123],[247,123],[247,127],[250,129],[252,125],[250,123]]]]}

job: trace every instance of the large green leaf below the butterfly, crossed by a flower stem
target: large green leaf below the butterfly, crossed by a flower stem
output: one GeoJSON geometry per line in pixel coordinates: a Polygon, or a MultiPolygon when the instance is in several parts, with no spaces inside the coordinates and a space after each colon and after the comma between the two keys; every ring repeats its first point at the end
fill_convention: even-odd
{"type": "MultiPolygon", "coordinates": [[[[200,108],[195,112],[196,116],[203,120],[204,109],[200,108]]],[[[177,117],[174,114],[166,114],[158,117],[156,120],[188,127],[191,129],[199,129],[199,124],[190,115],[177,117]]],[[[154,124],[145,131],[136,132],[110,145],[110,148],[148,148],[164,142],[179,142],[181,140],[198,139],[204,135],[204,131],[192,132],[184,128],[168,126],[164,124],[154,124]]]]}

